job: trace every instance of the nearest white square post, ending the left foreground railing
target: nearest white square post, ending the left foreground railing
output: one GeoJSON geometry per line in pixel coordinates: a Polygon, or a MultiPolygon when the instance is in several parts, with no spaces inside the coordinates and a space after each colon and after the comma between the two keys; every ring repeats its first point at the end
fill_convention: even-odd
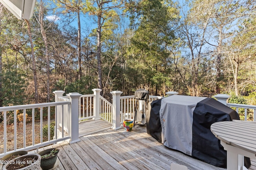
{"type": "Polygon", "coordinates": [[[79,98],[82,94],[79,93],[69,93],[66,94],[69,97],[71,103],[71,113],[70,113],[70,141],[69,143],[79,142],[79,98]]]}

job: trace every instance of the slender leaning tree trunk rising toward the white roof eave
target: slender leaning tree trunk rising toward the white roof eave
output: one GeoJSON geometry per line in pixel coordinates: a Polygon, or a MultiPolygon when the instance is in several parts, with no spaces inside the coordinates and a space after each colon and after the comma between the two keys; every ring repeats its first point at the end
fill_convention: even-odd
{"type": "Polygon", "coordinates": [[[31,46],[32,65],[33,65],[33,74],[34,74],[34,85],[35,85],[35,103],[37,104],[38,103],[38,87],[37,87],[37,75],[36,75],[36,61],[35,61],[35,54],[34,54],[34,45],[33,45],[33,41],[32,41],[30,23],[26,19],[25,19],[25,21],[28,24],[28,36],[29,36],[30,46],[31,46]]]}

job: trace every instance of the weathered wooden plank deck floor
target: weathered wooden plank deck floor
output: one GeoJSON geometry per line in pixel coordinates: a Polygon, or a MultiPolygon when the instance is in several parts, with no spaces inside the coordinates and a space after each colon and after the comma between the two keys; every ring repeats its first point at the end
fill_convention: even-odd
{"type": "MultiPolygon", "coordinates": [[[[169,149],[146,133],[146,127],[135,126],[131,132],[114,131],[102,120],[80,123],[81,141],[61,143],[54,170],[170,170],[171,163],[189,170],[225,170],[169,149]]],[[[46,147],[44,149],[48,149],[46,147]]],[[[251,170],[256,170],[252,161],[251,170]]]]}

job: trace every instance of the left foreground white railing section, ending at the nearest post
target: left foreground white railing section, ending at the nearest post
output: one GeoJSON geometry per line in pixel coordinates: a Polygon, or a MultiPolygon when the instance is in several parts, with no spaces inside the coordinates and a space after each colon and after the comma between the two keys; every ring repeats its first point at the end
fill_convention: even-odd
{"type": "MultiPolygon", "coordinates": [[[[13,151],[19,151],[19,150],[31,150],[36,149],[39,147],[44,147],[46,145],[50,145],[52,143],[57,143],[59,141],[70,139],[69,134],[67,134],[66,137],[62,135],[62,137],[57,137],[57,129],[55,128],[55,136],[54,139],[50,139],[50,122],[52,121],[50,118],[52,114],[54,114],[55,117],[55,123],[57,122],[58,115],[57,107],[60,106],[62,108],[62,114],[64,113],[63,108],[65,106],[70,107],[70,102],[52,102],[52,103],[44,103],[44,104],[30,104],[30,105],[20,105],[20,106],[8,106],[8,107],[0,107],[0,114],[3,115],[3,143],[1,144],[3,146],[3,149],[0,150],[0,157],[6,153],[13,152],[13,151]],[[23,120],[20,119],[20,121],[17,121],[17,112],[22,112],[23,120]],[[32,114],[32,121],[31,123],[27,123],[26,120],[26,113],[30,112],[32,114]],[[38,119],[35,119],[37,114],[39,115],[38,119]],[[47,117],[46,123],[43,121],[43,115],[47,117]],[[8,123],[8,121],[13,121],[12,124],[8,123]],[[36,121],[40,122],[40,130],[38,131],[35,129],[36,121]],[[8,124],[7,124],[8,123],[8,124]],[[43,139],[43,126],[48,125],[48,139],[43,139]],[[20,127],[22,126],[22,127],[20,127]],[[18,129],[19,128],[19,129],[18,129]],[[22,128],[22,133],[20,133],[20,128],[22,128]],[[7,129],[8,134],[7,134],[7,129]],[[10,129],[13,129],[13,131],[10,129]],[[28,134],[31,135],[31,139],[28,139],[28,134]],[[36,139],[36,135],[39,135],[39,140],[36,139]],[[22,135],[22,145],[18,146],[20,144],[20,141],[18,141],[17,136],[22,135]],[[31,141],[31,143],[28,143],[28,140],[31,141]],[[38,141],[38,142],[36,142],[38,141]],[[11,146],[11,147],[7,147],[11,146]]],[[[21,114],[22,114],[21,113],[21,114]]],[[[69,114],[69,112],[68,112],[69,114]]],[[[37,116],[38,117],[38,116],[37,116]]],[[[62,115],[63,117],[63,115],[62,115]]],[[[64,118],[65,119],[65,118],[64,118]]],[[[66,117],[68,119],[68,117],[66,117]]],[[[63,119],[62,119],[63,120],[63,119]]],[[[56,124],[55,124],[56,125],[56,124]]],[[[1,127],[2,128],[2,127],[1,127]]],[[[62,131],[63,133],[63,131],[62,131]]]]}

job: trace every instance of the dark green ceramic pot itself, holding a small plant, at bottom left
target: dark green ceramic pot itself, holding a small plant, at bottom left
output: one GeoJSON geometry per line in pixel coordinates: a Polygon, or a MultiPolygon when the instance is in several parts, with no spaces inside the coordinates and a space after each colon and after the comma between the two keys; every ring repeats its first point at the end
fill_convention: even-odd
{"type": "MultiPolygon", "coordinates": [[[[38,154],[43,156],[44,154],[50,153],[52,150],[54,150],[54,148],[43,150],[43,151],[39,152],[38,154]]],[[[55,162],[57,160],[57,155],[58,155],[58,152],[59,152],[58,149],[55,149],[55,150],[57,152],[56,152],[56,154],[54,156],[52,156],[50,158],[42,158],[41,157],[41,168],[42,168],[42,170],[49,170],[49,169],[54,167],[54,164],[55,164],[55,162]]]]}

